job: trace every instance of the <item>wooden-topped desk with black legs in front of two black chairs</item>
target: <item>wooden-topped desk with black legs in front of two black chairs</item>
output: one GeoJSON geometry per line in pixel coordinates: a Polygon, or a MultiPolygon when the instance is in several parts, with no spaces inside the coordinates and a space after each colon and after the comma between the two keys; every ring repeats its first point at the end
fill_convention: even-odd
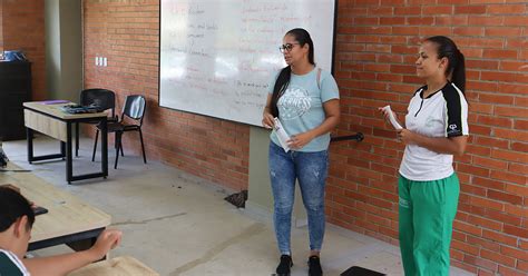
{"type": "MultiPolygon", "coordinates": [[[[71,103],[71,102],[70,102],[71,103]]],[[[108,129],[107,114],[78,114],[71,115],[60,110],[69,103],[46,105],[39,101],[23,102],[23,119],[28,139],[28,161],[66,158],[66,180],[68,184],[75,180],[108,176],[108,129]],[[101,171],[74,176],[72,135],[71,125],[87,121],[100,121],[101,130],[101,171]],[[33,155],[33,130],[61,141],[60,154],[35,156],[33,155]]]]}

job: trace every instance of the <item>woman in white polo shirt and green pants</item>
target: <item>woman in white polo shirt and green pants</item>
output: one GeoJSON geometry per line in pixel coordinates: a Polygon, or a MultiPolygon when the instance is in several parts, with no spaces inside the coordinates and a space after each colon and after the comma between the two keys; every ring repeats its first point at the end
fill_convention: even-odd
{"type": "MultiPolygon", "coordinates": [[[[400,165],[400,249],[405,275],[449,275],[449,247],[457,214],[459,180],[453,155],[468,139],[463,55],[447,37],[427,38],[420,46],[418,77],[424,79],[411,98],[400,165]]],[[[390,110],[380,109],[389,120],[390,110]]],[[[395,116],[395,114],[393,114],[395,116]]]]}

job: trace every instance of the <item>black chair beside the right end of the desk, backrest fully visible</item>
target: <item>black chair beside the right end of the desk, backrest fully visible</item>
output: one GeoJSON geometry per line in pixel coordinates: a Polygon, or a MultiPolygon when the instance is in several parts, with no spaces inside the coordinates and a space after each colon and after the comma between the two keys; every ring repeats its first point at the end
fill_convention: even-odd
{"type": "MultiPolygon", "coordinates": [[[[115,140],[115,148],[116,148],[116,162],[114,168],[117,169],[117,161],[119,159],[119,151],[123,154],[123,144],[121,144],[121,136],[124,132],[127,131],[138,131],[139,139],[141,141],[141,150],[143,150],[143,161],[147,164],[147,157],[145,156],[145,145],[143,142],[143,117],[145,115],[145,109],[147,108],[147,101],[145,100],[144,96],[140,95],[130,95],[127,96],[125,100],[125,107],[123,108],[121,117],[119,121],[110,121],[108,122],[108,132],[116,134],[115,140]],[[127,119],[128,118],[128,119],[127,119]],[[136,124],[126,124],[127,120],[133,120],[136,124]]],[[[97,137],[99,136],[99,126],[97,127],[97,135],[96,141],[94,144],[94,154],[91,156],[91,160],[96,157],[96,149],[97,149],[97,137]]]]}

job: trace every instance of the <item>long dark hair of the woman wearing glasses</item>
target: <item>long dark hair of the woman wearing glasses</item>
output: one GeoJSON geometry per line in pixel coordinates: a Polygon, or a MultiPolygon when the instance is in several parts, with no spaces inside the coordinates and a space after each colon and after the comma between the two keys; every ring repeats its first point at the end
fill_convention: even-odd
{"type": "MultiPolygon", "coordinates": [[[[301,47],[309,45],[309,62],[315,65],[313,59],[313,41],[310,33],[305,29],[296,28],[286,32],[284,36],[292,36],[299,42],[301,47]]],[[[272,102],[270,105],[273,117],[278,117],[277,101],[278,98],[284,93],[287,86],[290,85],[290,78],[292,77],[292,68],[290,66],[284,67],[278,73],[275,86],[273,87],[272,102]]]]}

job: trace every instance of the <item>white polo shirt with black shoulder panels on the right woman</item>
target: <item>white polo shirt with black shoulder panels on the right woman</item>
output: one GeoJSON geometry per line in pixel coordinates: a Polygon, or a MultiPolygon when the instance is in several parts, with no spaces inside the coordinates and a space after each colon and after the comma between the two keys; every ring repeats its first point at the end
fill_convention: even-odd
{"type": "MultiPolygon", "coordinates": [[[[452,82],[423,99],[427,86],[414,92],[405,116],[405,128],[427,137],[469,135],[468,102],[452,82]]],[[[431,181],[453,174],[453,156],[439,154],[418,145],[407,145],[400,175],[410,180],[431,181]]]]}

